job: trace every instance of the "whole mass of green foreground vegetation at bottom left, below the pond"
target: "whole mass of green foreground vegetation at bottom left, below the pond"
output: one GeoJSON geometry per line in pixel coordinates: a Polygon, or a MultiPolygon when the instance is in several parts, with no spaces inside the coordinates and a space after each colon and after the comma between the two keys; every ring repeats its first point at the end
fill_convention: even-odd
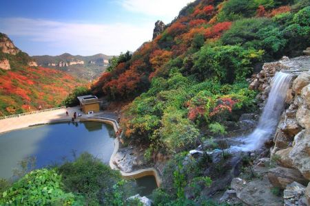
{"type": "MultiPolygon", "coordinates": [[[[29,164],[30,159],[21,161],[21,171],[29,164]]],[[[51,169],[26,172],[12,184],[0,179],[0,205],[139,205],[127,200],[134,192],[131,181],[88,153],[51,169]]]]}

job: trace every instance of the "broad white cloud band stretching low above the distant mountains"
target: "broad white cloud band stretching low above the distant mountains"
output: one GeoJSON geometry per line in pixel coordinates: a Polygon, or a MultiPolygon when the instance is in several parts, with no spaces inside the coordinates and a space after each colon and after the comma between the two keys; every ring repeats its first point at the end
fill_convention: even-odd
{"type": "Polygon", "coordinates": [[[42,43],[42,47],[81,55],[118,55],[127,50],[134,51],[152,38],[153,27],[153,22],[132,25],[64,23],[25,18],[0,19],[0,31],[9,36],[25,37],[29,41],[42,43]]]}

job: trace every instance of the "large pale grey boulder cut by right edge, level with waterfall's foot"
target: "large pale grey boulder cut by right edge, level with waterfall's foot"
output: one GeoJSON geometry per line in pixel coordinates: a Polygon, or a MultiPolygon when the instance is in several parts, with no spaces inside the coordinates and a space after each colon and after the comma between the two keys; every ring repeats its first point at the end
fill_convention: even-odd
{"type": "Polygon", "coordinates": [[[310,181],[310,129],[302,130],[295,136],[289,158],[293,161],[294,168],[310,181]]]}

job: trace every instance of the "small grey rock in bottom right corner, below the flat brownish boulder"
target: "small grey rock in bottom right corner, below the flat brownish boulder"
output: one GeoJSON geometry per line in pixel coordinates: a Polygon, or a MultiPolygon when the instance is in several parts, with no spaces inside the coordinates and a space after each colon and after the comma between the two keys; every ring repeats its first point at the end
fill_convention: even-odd
{"type": "Polygon", "coordinates": [[[304,185],[300,183],[293,182],[287,185],[286,189],[283,192],[283,198],[285,200],[285,206],[307,206],[307,199],[304,196],[305,192],[304,185]]]}

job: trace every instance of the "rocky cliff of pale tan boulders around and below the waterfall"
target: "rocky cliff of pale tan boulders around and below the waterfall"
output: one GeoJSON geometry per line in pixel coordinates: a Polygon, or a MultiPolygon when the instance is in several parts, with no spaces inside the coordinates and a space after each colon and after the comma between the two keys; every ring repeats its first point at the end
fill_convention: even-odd
{"type": "MultiPolygon", "coordinates": [[[[285,111],[276,128],[270,155],[256,159],[252,170],[260,179],[235,178],[225,201],[249,205],[310,205],[310,56],[284,57],[266,63],[251,78],[261,106],[267,100],[271,78],[277,71],[291,73],[285,111]],[[278,191],[278,196],[274,191],[278,191]]],[[[270,145],[270,143],[269,143],[270,145]]]]}

